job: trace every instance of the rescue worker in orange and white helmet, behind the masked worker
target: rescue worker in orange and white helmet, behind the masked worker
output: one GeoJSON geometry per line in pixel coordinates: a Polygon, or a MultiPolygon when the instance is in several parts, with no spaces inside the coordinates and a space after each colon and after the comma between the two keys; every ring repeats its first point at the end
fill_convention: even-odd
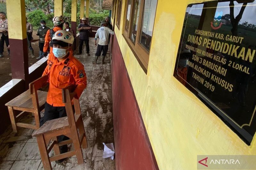
{"type": "Polygon", "coordinates": [[[50,53],[52,53],[52,44],[50,43],[51,40],[52,40],[52,36],[57,31],[62,30],[64,20],[63,20],[62,16],[60,16],[60,17],[54,17],[52,19],[52,22],[54,24],[54,28],[49,29],[46,32],[45,39],[44,39],[44,51],[43,51],[44,52],[43,53],[44,56],[46,56],[47,55],[47,51],[49,51],[49,44],[50,44],[50,53]]]}

